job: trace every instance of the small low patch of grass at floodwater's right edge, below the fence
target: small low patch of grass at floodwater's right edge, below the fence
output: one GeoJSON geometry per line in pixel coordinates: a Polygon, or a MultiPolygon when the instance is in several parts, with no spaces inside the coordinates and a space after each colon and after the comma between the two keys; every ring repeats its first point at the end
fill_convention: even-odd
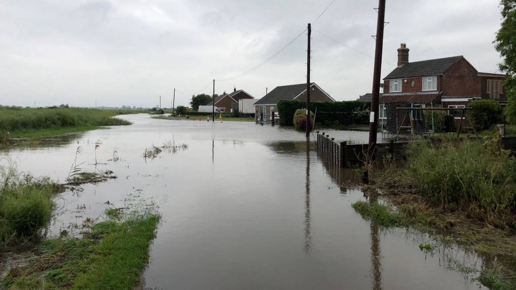
{"type": "Polygon", "coordinates": [[[400,206],[396,211],[392,206],[376,202],[357,201],[351,204],[362,218],[373,221],[383,227],[414,227],[428,230],[433,221],[430,217],[408,205],[400,206]]]}

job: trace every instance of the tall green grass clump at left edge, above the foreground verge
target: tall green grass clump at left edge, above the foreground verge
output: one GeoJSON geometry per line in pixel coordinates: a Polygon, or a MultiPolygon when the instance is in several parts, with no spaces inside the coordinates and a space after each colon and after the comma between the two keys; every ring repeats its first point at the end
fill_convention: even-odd
{"type": "Polygon", "coordinates": [[[33,237],[50,223],[61,186],[0,167],[0,247],[33,237]]]}

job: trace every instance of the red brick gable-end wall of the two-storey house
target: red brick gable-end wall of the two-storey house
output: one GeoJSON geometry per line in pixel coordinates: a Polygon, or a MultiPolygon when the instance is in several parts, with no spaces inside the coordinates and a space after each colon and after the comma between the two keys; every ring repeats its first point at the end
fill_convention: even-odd
{"type": "Polygon", "coordinates": [[[443,74],[443,95],[479,96],[478,71],[465,59],[460,59],[443,74]]]}

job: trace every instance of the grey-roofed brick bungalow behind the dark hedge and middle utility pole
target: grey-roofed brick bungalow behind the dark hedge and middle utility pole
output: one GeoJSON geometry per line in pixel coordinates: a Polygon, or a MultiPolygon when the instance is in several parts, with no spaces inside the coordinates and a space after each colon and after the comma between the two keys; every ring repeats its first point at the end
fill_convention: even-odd
{"type": "MultiPolygon", "coordinates": [[[[317,84],[311,83],[310,101],[313,102],[334,102],[335,100],[317,84]]],[[[307,84],[279,86],[271,90],[262,99],[254,103],[256,116],[270,114],[271,111],[278,111],[278,102],[282,100],[307,101],[307,84]]]]}

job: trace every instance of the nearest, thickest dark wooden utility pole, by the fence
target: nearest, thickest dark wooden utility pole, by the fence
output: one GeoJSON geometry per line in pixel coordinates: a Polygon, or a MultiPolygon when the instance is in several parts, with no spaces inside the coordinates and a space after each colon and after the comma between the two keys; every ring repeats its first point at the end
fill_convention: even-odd
{"type": "MultiPolygon", "coordinates": [[[[375,9],[376,10],[376,9],[375,9]]],[[[378,133],[378,103],[380,99],[380,74],[382,70],[383,27],[385,27],[385,0],[379,0],[378,23],[376,24],[375,68],[373,73],[373,99],[369,116],[369,160],[375,158],[376,135],[378,133]]]]}

